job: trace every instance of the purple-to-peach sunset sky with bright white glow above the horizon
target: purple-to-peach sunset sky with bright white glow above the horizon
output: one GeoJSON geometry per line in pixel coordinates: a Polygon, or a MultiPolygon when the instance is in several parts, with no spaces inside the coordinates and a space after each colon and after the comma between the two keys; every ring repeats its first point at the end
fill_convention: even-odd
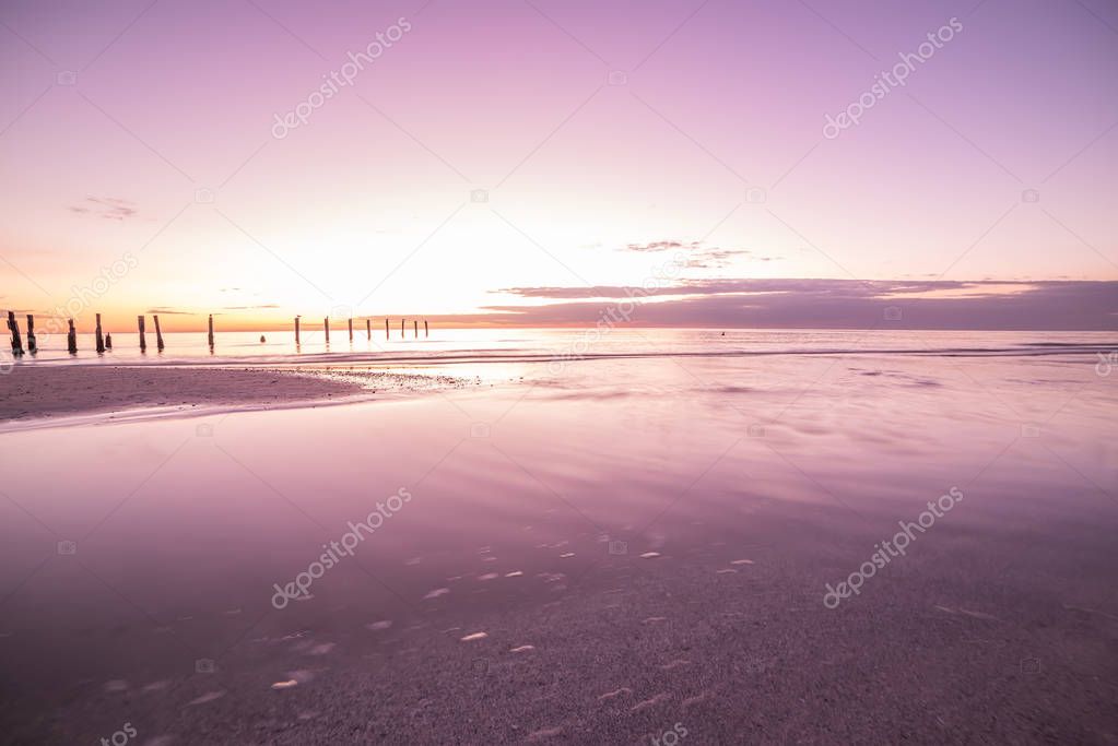
{"type": "Polygon", "coordinates": [[[1114,329],[1116,166],[1102,0],[0,4],[0,307],[82,327],[1114,329]]]}

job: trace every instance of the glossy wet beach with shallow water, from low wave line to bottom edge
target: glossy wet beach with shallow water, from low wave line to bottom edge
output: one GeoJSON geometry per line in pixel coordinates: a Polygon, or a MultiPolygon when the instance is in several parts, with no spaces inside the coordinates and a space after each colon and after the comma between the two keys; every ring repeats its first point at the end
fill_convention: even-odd
{"type": "Polygon", "coordinates": [[[16,422],[0,725],[58,744],[125,724],[153,745],[1114,743],[1114,381],[1083,341],[1030,339],[505,350],[425,363],[471,385],[382,400],[247,364],[250,388],[322,388],[16,422]]]}

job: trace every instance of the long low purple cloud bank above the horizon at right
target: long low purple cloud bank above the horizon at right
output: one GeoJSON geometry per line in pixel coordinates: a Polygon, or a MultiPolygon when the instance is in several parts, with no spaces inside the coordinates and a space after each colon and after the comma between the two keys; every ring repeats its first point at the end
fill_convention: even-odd
{"type": "Polygon", "coordinates": [[[515,287],[501,293],[557,303],[493,305],[475,321],[594,325],[636,299],[635,326],[913,329],[1118,329],[1118,281],[684,279],[635,286],[515,287]],[[887,307],[901,318],[885,321],[887,307]]]}

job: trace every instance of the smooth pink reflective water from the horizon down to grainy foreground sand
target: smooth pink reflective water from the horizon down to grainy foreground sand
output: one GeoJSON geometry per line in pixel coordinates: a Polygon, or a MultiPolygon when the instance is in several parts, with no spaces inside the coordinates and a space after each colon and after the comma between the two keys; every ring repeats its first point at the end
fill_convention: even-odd
{"type": "MultiPolygon", "coordinates": [[[[362,339],[352,353],[335,344],[330,357],[310,343],[296,355],[281,333],[266,333],[276,341],[265,346],[226,335],[217,358],[406,356],[408,366],[483,385],[0,434],[0,661],[4,699],[18,702],[6,706],[11,727],[64,739],[132,719],[153,736],[181,737],[195,727],[184,711],[262,717],[246,702],[277,696],[277,681],[296,681],[295,697],[348,690],[331,677],[392,664],[402,666],[397,678],[433,660],[467,675],[489,670],[476,660],[490,656],[513,667],[509,650],[558,648],[563,638],[541,610],[578,610],[563,622],[577,624],[593,616],[582,604],[609,592],[631,597],[600,612],[617,616],[610,623],[626,638],[681,609],[710,619],[774,593],[780,613],[799,614],[777,628],[830,624],[850,616],[824,609],[824,585],[953,487],[965,499],[843,613],[885,604],[954,614],[953,624],[979,619],[960,609],[987,614],[1003,627],[983,634],[1017,647],[979,657],[984,671],[1012,668],[1038,644],[1005,630],[1118,619],[1118,369],[1100,366],[1107,335],[647,331],[584,346],[579,332],[437,334],[386,350],[362,339]],[[567,353],[576,358],[555,360],[567,353]],[[427,360],[447,354],[464,360],[427,360]],[[315,578],[313,597],[275,608],[276,584],[401,489],[411,499],[315,578]],[[752,564],[733,564],[746,558],[752,564]],[[634,592],[646,576],[663,585],[634,592]],[[1065,608],[1089,612],[1069,621],[1061,615],[1080,612],[1065,608]],[[481,631],[486,639],[459,641],[481,631]],[[470,644],[479,647],[463,653],[470,644]],[[196,672],[206,660],[220,670],[196,672]]],[[[141,360],[114,336],[113,361],[141,360]]],[[[210,360],[203,336],[168,338],[163,360],[210,360]]],[[[144,360],[160,358],[149,350],[144,360]]],[[[97,358],[66,361],[45,351],[21,364],[97,358]]],[[[1100,630],[1061,649],[1060,664],[1080,677],[1068,686],[1114,681],[1114,630],[1100,630]]],[[[587,634],[613,650],[607,632],[587,634]]],[[[940,645],[958,648],[965,671],[974,651],[954,639],[940,645]]],[[[657,666],[673,660],[666,648],[657,666]]],[[[614,686],[596,669],[579,676],[594,699],[638,688],[643,675],[614,686]]],[[[718,702],[712,681],[700,688],[718,702]]],[[[665,687],[676,710],[661,719],[671,726],[695,692],[685,677],[665,687]]],[[[558,721],[572,733],[555,709],[561,702],[544,700],[524,705],[518,729],[502,721],[494,731],[558,721]]],[[[266,701],[268,717],[293,728],[313,725],[301,716],[324,707],[266,701]]]]}

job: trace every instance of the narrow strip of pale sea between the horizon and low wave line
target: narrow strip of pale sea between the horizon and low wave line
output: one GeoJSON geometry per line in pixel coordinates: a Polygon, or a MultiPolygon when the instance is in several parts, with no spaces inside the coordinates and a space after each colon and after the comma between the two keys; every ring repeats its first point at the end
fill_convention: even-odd
{"type": "MultiPolygon", "coordinates": [[[[25,332],[26,336],[26,332],[25,332]]],[[[613,356],[712,356],[759,354],[931,354],[975,355],[1054,355],[1097,354],[1101,358],[1118,346],[1118,336],[1107,332],[940,332],[879,329],[657,329],[657,328],[559,328],[559,329],[458,329],[434,328],[418,336],[408,325],[385,335],[373,326],[371,338],[363,324],[357,324],[353,341],[344,324],[331,331],[325,342],[321,328],[304,327],[301,344],[292,329],[265,332],[217,332],[215,346],[207,344],[203,332],[168,333],[165,348],[155,347],[155,335],[146,334],[148,348],[141,352],[139,334],[117,332],[114,348],[96,353],[93,334],[78,334],[78,352],[69,354],[64,334],[38,337],[39,352],[15,361],[16,364],[238,364],[238,363],[361,363],[459,360],[546,360],[569,361],[613,356]],[[265,342],[260,342],[260,337],[265,342]]],[[[26,338],[25,338],[26,345],[26,338]]],[[[4,351],[7,353],[7,350],[4,351]]],[[[10,356],[3,360],[11,364],[10,356]]],[[[1096,361],[1098,362],[1098,361],[1096,361]]]]}

